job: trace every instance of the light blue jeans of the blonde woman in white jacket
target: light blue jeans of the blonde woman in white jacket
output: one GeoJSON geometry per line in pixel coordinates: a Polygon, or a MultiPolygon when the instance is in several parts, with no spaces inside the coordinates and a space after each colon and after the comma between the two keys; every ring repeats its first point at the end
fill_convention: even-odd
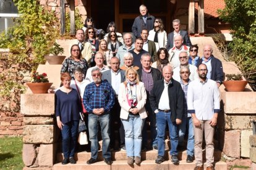
{"type": "Polygon", "coordinates": [[[139,156],[142,149],[142,128],[145,119],[140,115],[129,115],[128,119],[121,119],[126,133],[126,153],[127,156],[139,156]]]}

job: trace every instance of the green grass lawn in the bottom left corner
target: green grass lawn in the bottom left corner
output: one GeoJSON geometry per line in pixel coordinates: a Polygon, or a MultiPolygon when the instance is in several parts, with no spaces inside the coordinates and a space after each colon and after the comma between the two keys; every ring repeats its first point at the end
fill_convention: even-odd
{"type": "Polygon", "coordinates": [[[0,138],[0,169],[23,169],[22,137],[0,138]]]}

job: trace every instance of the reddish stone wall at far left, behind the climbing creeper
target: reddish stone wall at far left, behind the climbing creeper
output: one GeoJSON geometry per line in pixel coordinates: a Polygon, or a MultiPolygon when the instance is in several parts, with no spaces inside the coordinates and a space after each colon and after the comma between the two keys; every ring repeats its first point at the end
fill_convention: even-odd
{"type": "MultiPolygon", "coordinates": [[[[4,92],[3,84],[15,80],[20,84],[30,80],[28,71],[19,65],[10,65],[7,58],[11,55],[8,50],[0,49],[0,93],[4,92]]],[[[20,95],[10,89],[9,96],[0,95],[0,137],[21,135],[23,115],[20,114],[20,95]]]]}

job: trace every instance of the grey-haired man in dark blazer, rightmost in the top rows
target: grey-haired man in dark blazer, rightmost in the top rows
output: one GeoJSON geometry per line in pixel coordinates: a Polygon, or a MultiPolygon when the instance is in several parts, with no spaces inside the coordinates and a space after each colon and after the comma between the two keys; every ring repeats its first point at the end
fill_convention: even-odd
{"type": "Polygon", "coordinates": [[[176,35],[181,35],[183,38],[183,44],[186,46],[192,46],[191,41],[189,39],[189,34],[185,30],[181,30],[181,22],[176,19],[173,20],[173,28],[174,31],[169,33],[167,36],[167,50],[171,49],[173,47],[173,42],[174,42],[174,36],[176,35]]]}

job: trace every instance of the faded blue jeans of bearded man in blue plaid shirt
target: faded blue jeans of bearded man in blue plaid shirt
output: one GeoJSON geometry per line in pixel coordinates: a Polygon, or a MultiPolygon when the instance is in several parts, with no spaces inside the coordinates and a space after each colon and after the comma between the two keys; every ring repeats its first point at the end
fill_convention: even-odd
{"type": "Polygon", "coordinates": [[[103,158],[111,158],[111,152],[109,150],[109,114],[97,116],[93,113],[90,113],[88,116],[89,136],[91,141],[91,157],[95,160],[98,158],[98,123],[100,123],[101,137],[103,140],[103,158]]]}

